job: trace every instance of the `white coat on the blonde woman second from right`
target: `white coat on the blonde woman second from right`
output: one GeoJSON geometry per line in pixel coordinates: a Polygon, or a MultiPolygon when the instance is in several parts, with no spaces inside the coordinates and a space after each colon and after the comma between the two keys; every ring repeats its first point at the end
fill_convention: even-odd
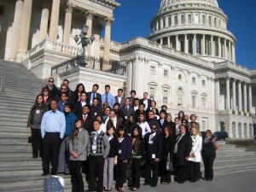
{"type": "Polygon", "coordinates": [[[191,136],[192,138],[192,149],[190,154],[195,155],[195,157],[189,157],[190,161],[193,162],[201,162],[201,147],[202,147],[202,137],[197,136],[191,136]]]}

